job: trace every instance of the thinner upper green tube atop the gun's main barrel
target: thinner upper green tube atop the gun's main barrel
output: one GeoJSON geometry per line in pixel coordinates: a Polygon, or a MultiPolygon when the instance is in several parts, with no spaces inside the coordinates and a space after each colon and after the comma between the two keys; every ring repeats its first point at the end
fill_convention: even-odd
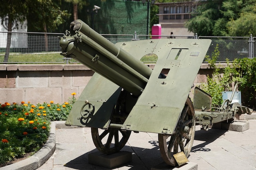
{"type": "Polygon", "coordinates": [[[121,59],[124,63],[129,65],[131,68],[139,72],[146,78],[150,77],[152,73],[152,69],[148,68],[144,63],[138,62],[135,57],[130,55],[129,53],[125,52],[123,49],[119,48],[108,39],[94,31],[90,26],[85,24],[81,20],[74,20],[70,23],[70,31],[80,31],[81,33],[85,34],[97,44],[102,46],[103,48],[107,49],[109,52],[114,54],[117,58],[121,59]]]}

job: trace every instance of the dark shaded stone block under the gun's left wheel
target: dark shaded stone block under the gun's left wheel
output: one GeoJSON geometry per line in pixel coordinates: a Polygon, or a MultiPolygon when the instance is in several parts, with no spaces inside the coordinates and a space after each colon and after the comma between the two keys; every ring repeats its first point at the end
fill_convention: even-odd
{"type": "Polygon", "coordinates": [[[89,153],[88,162],[105,168],[115,168],[132,161],[132,153],[120,151],[111,155],[106,155],[101,152],[89,153]]]}

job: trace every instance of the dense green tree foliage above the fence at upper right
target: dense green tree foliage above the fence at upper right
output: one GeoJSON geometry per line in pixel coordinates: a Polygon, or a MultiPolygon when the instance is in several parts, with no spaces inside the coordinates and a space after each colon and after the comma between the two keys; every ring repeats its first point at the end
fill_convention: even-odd
{"type": "Polygon", "coordinates": [[[256,0],[207,0],[186,28],[201,36],[256,35],[256,0]]]}

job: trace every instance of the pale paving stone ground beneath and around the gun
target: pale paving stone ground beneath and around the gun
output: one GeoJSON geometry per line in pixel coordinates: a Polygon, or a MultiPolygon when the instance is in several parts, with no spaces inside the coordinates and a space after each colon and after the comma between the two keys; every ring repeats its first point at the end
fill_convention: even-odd
{"type": "MultiPolygon", "coordinates": [[[[188,157],[198,170],[256,170],[256,120],[244,132],[220,129],[200,130],[196,126],[193,148],[188,157]]],[[[97,152],[90,128],[56,125],[56,150],[38,170],[108,170],[88,163],[97,152]]],[[[133,133],[122,150],[132,153],[132,162],[112,170],[150,170],[162,163],[155,133],[133,133]]]]}

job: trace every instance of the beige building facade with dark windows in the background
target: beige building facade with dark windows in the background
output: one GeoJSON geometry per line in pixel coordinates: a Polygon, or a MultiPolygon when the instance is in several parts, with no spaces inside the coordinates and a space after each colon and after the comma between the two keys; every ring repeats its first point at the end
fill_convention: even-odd
{"type": "Polygon", "coordinates": [[[162,27],[162,35],[171,35],[171,33],[173,36],[194,35],[184,25],[192,17],[191,13],[200,5],[200,1],[155,3],[155,5],[159,6],[157,15],[162,27]]]}

